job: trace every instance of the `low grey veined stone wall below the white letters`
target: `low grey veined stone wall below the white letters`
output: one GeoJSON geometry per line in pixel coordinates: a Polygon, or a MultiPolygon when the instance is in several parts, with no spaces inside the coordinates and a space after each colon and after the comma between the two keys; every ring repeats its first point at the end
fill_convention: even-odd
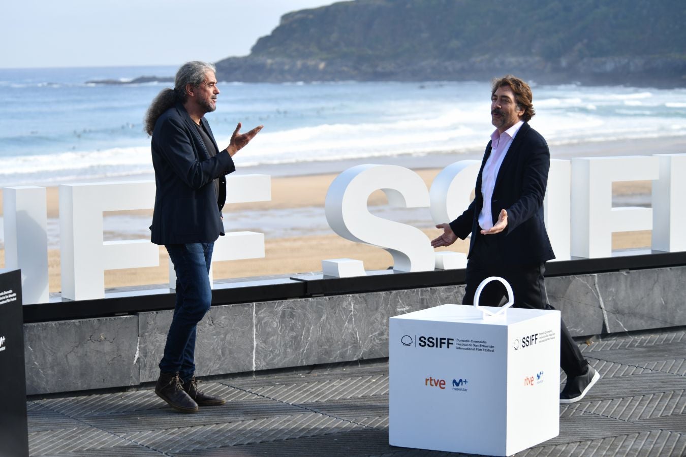
{"type": "MultiPolygon", "coordinates": [[[[573,336],[686,325],[686,267],[546,279],[573,336]]],[[[197,375],[388,356],[388,319],[460,303],[464,286],[213,306],[198,326],[197,375]]],[[[24,324],[27,395],[156,380],[171,310],[24,324]]]]}

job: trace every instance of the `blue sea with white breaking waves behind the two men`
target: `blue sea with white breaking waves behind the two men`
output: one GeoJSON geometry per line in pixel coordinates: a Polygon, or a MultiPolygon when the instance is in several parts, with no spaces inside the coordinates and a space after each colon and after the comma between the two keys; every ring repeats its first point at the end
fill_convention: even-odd
{"type": "MultiPolygon", "coordinates": [[[[173,76],[175,67],[0,69],[0,186],[152,175],[143,116],[169,84],[95,79],[173,76]]],[[[265,128],[235,158],[241,171],[322,162],[482,151],[488,82],[220,82],[207,114],[217,143],[237,122],[265,128]]],[[[539,86],[532,126],[549,145],[686,136],[686,89],[539,86]]],[[[274,173],[276,171],[276,173],[274,173]]],[[[341,170],[342,171],[342,170],[341,170]]]]}

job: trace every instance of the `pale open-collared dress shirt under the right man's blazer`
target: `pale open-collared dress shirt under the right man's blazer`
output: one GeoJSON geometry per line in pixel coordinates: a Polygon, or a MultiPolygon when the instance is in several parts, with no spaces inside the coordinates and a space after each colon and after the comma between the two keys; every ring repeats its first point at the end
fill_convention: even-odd
{"type": "Polygon", "coordinates": [[[498,171],[503,164],[508,149],[512,145],[514,136],[517,135],[519,129],[524,124],[524,121],[512,125],[505,132],[500,133],[498,129],[490,134],[490,156],[484,165],[484,171],[481,173],[481,194],[484,196],[484,206],[479,213],[479,225],[483,230],[488,230],[493,227],[493,214],[490,214],[490,203],[493,199],[493,188],[495,188],[495,179],[498,177],[498,171]]]}

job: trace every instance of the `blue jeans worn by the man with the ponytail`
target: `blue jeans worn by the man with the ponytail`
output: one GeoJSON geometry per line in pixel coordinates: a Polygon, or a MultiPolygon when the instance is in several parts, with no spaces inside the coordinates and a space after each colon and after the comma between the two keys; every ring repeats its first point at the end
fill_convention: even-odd
{"type": "Polygon", "coordinates": [[[176,307],[160,370],[163,373],[178,371],[181,380],[186,382],[196,371],[196,328],[212,303],[208,274],[214,242],[165,247],[176,271],[176,307]]]}

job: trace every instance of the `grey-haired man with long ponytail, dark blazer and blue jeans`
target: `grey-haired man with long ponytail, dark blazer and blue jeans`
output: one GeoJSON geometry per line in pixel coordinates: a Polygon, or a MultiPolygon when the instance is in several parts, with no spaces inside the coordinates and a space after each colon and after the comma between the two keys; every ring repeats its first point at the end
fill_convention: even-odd
{"type": "Polygon", "coordinates": [[[176,73],[174,89],[160,92],[145,118],[156,184],[151,240],[165,245],[176,271],[176,307],[155,393],[182,412],[225,402],[198,389],[196,327],[212,301],[208,273],[214,242],[224,235],[224,176],[235,171],[234,154],[262,128],[240,134],[239,123],[220,151],[204,118],[215,110],[219,93],[215,67],[188,62],[176,73]]]}

